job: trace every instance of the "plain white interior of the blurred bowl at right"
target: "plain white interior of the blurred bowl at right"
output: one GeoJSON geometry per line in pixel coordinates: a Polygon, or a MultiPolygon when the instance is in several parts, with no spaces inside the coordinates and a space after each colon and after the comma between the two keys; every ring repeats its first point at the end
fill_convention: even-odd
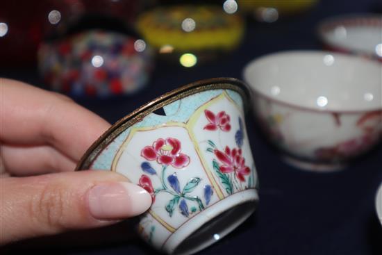
{"type": "Polygon", "coordinates": [[[244,70],[254,90],[294,106],[315,110],[381,108],[382,65],[324,51],[287,51],[259,58],[244,70]],[[327,104],[317,100],[325,97],[327,104]]]}

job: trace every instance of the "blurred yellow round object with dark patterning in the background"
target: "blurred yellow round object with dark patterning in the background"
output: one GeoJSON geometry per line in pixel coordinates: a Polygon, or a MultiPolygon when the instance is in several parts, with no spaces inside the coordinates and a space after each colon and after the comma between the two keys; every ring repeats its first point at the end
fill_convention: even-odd
{"type": "Polygon", "coordinates": [[[233,51],[244,35],[244,20],[221,6],[162,6],[138,17],[137,30],[165,60],[184,67],[213,60],[233,51]]]}

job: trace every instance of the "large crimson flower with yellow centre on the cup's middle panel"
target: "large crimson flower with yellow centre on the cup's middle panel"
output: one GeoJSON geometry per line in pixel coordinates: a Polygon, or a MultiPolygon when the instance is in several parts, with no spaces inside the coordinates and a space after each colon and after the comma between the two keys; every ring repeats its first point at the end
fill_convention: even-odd
{"type": "Polygon", "coordinates": [[[181,142],[176,138],[159,138],[152,146],[144,147],[140,154],[148,161],[156,160],[161,165],[172,165],[176,168],[190,163],[190,157],[181,153],[181,142]]]}

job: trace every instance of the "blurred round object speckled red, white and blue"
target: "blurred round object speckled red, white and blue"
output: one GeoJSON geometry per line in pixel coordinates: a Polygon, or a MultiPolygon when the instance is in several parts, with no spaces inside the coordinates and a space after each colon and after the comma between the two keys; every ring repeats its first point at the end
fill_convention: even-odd
{"type": "Polygon", "coordinates": [[[146,42],[100,29],[44,42],[38,53],[45,83],[72,97],[133,94],[147,85],[153,69],[146,42]]]}

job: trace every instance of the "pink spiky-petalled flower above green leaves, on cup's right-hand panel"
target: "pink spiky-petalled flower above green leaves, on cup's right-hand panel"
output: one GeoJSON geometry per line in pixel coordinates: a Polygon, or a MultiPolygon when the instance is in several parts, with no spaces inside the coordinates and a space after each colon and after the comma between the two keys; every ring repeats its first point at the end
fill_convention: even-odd
{"type": "Polygon", "coordinates": [[[242,157],[241,149],[229,149],[226,146],[224,151],[219,151],[215,149],[215,156],[219,159],[223,165],[219,166],[220,172],[228,174],[230,172],[235,172],[236,176],[240,181],[245,181],[245,175],[251,173],[251,170],[247,165],[245,165],[245,159],[242,157]]]}

